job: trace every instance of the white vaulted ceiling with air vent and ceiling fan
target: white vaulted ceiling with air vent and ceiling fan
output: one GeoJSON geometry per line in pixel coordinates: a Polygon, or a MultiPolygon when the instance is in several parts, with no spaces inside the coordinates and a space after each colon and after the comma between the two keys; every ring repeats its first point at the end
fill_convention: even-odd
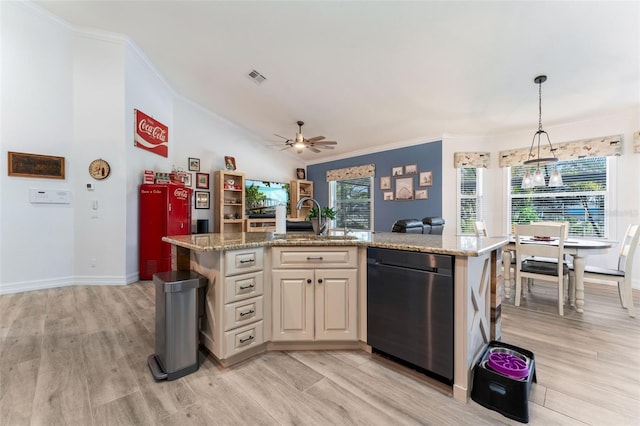
{"type": "MultiPolygon", "coordinates": [[[[637,1],[36,1],[129,38],[177,94],[257,135],[372,146],[579,121],[640,104],[637,1]],[[266,80],[256,84],[256,70],[266,80]]],[[[546,126],[545,126],[546,127],[546,126]]],[[[523,141],[526,146],[529,141],[523,141]]],[[[295,153],[292,153],[295,155],[295,153]]]]}

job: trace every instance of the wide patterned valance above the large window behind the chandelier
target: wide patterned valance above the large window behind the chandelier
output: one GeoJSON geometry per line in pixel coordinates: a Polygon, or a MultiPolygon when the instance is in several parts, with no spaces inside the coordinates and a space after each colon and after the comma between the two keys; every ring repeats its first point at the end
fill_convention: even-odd
{"type": "MultiPolygon", "coordinates": [[[[522,165],[529,158],[528,148],[509,149],[500,151],[499,165],[500,167],[511,167],[522,165]]],[[[537,154],[537,145],[533,147],[533,153],[537,154]]],[[[564,142],[553,145],[552,154],[549,145],[540,145],[540,157],[553,157],[559,160],[575,160],[585,157],[611,157],[622,155],[622,136],[602,136],[593,139],[582,139],[573,142],[564,142]]],[[[533,159],[534,157],[532,157],[533,159]]]]}

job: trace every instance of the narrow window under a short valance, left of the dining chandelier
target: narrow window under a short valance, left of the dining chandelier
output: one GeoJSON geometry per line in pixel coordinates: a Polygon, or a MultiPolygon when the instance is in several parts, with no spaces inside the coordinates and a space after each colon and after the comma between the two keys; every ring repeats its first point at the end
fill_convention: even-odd
{"type": "Polygon", "coordinates": [[[483,169],[459,168],[458,170],[458,234],[476,233],[475,222],[483,220],[482,174],[483,169]]]}

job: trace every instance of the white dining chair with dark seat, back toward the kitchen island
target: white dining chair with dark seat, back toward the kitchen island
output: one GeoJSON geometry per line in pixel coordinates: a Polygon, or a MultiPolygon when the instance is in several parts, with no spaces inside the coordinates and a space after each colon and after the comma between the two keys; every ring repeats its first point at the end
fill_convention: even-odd
{"type": "Polygon", "coordinates": [[[558,285],[558,314],[564,315],[564,288],[569,279],[569,267],[562,261],[565,232],[565,225],[561,222],[515,225],[516,306],[520,306],[524,280],[551,281],[558,285]],[[558,244],[555,244],[556,240],[558,244]],[[540,261],[538,257],[545,260],[540,261]],[[549,259],[555,259],[555,263],[549,259]]]}

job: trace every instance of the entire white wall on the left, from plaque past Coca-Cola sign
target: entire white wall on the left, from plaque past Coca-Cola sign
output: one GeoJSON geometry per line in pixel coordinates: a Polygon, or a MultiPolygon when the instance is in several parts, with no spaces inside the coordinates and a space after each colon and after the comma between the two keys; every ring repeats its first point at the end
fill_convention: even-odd
{"type": "MultiPolygon", "coordinates": [[[[7,177],[1,162],[0,293],[137,280],[145,169],[186,170],[187,158],[197,157],[201,170],[211,172],[231,155],[249,178],[288,181],[304,166],[180,98],[126,38],[76,31],[30,3],[0,2],[0,8],[1,155],[63,156],[67,172],[65,180],[7,177]],[[134,147],[134,109],[169,127],[168,158],[134,147]],[[88,174],[96,158],[111,164],[103,181],[88,174]],[[71,190],[73,201],[31,204],[33,187],[71,190]]],[[[212,214],[194,210],[194,221],[212,214]]]]}

